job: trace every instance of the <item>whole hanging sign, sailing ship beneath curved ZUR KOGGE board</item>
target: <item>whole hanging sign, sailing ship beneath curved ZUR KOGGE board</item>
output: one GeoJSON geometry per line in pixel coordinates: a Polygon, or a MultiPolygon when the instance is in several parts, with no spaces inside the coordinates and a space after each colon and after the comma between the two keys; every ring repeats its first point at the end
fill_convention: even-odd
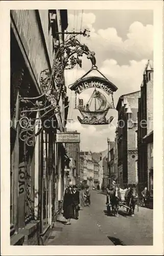
{"type": "Polygon", "coordinates": [[[109,124],[113,117],[106,119],[106,115],[109,109],[114,109],[113,102],[113,92],[118,90],[116,86],[107,79],[102,77],[85,77],[78,80],[70,88],[75,91],[76,94],[81,94],[83,91],[93,88],[93,93],[91,94],[86,105],[83,104],[83,99],[79,99],[78,110],[80,111],[83,119],[78,116],[78,120],[81,124],[109,124]],[[111,97],[110,103],[107,97],[101,93],[99,90],[104,91],[107,97],[111,97]]]}

